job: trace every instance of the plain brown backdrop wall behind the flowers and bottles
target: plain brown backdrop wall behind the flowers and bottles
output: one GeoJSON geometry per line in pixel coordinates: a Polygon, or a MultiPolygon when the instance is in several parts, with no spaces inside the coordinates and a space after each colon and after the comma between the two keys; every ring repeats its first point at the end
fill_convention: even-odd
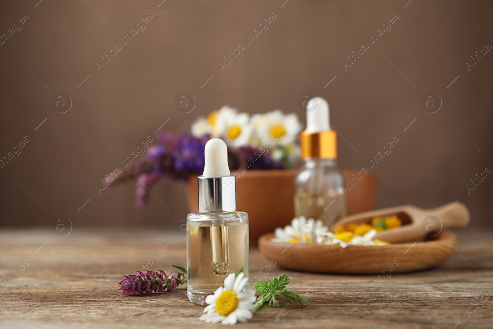
{"type": "Polygon", "coordinates": [[[61,215],[74,227],[172,225],[187,213],[181,183],[153,189],[169,211],[151,196],[141,212],[133,183],[99,195],[95,186],[168,119],[162,129],[188,130],[199,115],[228,104],[250,113],[297,112],[304,124],[297,101],[311,92],[329,101],[331,123],[344,136],[342,168],[361,168],[392,137],[400,139],[372,169],[379,207],[406,204],[403,198],[423,208],[460,198],[472,226],[491,227],[492,175],[469,195],[465,187],[493,169],[493,52],[469,72],[465,65],[493,45],[491,1],[85,2],[0,4],[1,34],[30,15],[0,46],[0,157],[30,138],[0,169],[1,225],[49,225],[61,215]],[[145,30],[98,72],[100,56],[148,12],[145,30]],[[268,30],[221,72],[222,56],[272,12],[268,30]],[[345,72],[341,62],[393,13],[399,19],[391,30],[345,72]],[[58,92],[73,101],[67,113],[51,106],[58,92]],[[190,113],[174,106],[181,92],[196,100],[190,113]],[[443,101],[436,113],[421,106],[428,92],[443,101]]]}

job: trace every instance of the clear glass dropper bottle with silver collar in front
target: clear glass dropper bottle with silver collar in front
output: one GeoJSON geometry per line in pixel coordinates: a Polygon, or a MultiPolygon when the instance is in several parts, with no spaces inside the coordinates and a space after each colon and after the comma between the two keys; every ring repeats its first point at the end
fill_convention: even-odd
{"type": "Polygon", "coordinates": [[[227,146],[213,138],[204,152],[199,212],[187,216],[187,296],[199,305],[227,274],[244,272],[248,278],[248,215],[236,211],[236,177],[229,171],[227,146]]]}

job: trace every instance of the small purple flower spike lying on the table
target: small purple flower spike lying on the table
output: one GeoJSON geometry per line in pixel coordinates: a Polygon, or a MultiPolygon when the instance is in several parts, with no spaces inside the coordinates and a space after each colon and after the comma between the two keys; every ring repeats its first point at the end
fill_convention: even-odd
{"type": "Polygon", "coordinates": [[[138,271],[139,275],[124,275],[122,281],[118,283],[122,294],[135,294],[135,293],[150,293],[150,292],[162,292],[168,290],[171,292],[175,287],[182,285],[186,282],[185,274],[178,272],[172,274],[170,277],[162,270],[159,272],[146,271],[142,273],[138,271]]]}

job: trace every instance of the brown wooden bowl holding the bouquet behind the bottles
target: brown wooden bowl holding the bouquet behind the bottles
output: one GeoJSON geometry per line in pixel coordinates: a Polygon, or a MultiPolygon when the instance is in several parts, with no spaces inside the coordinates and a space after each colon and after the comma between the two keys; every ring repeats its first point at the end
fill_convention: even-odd
{"type": "MultiPolygon", "coordinates": [[[[358,172],[343,170],[346,183],[358,172]]],[[[291,223],[291,219],[294,218],[294,179],[297,174],[296,170],[250,169],[237,179],[237,209],[248,214],[250,242],[256,244],[262,234],[291,223]]],[[[377,177],[374,174],[367,173],[364,178],[354,183],[354,186],[347,184],[348,215],[375,208],[377,177]]],[[[188,180],[187,202],[191,213],[198,210],[196,177],[188,180]]]]}

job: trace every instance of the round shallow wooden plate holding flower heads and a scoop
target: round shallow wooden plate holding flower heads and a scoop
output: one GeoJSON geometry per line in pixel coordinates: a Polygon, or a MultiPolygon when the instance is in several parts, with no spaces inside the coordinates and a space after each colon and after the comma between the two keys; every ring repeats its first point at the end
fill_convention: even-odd
{"type": "Polygon", "coordinates": [[[418,271],[445,261],[457,246],[457,237],[449,231],[442,231],[414,245],[402,243],[346,248],[272,242],[273,235],[267,233],[258,240],[262,255],[290,270],[318,273],[371,274],[383,273],[389,268],[393,268],[392,273],[418,271]]]}

